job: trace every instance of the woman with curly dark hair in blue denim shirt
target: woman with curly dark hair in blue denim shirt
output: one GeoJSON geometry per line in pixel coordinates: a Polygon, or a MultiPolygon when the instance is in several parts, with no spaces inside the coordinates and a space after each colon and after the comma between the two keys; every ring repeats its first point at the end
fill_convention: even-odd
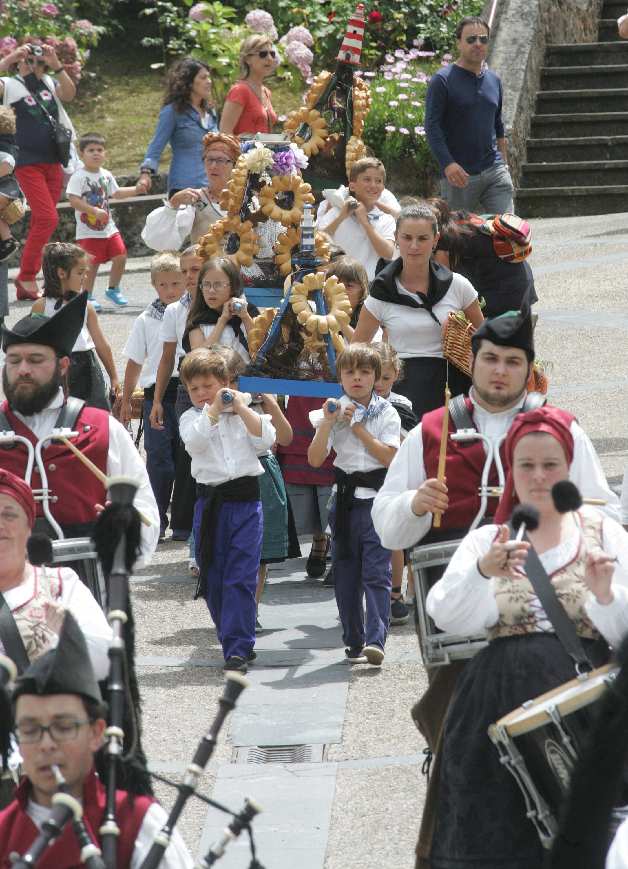
{"type": "Polygon", "coordinates": [[[199,57],[183,57],[170,70],[155,136],[142,160],[139,183],[147,193],[152,186],[150,176],[155,174],[168,143],[172,150],[168,197],[178,190],[205,184],[202,137],[218,132],[218,117],[214,109],[208,108],[211,86],[208,65],[199,57]]]}

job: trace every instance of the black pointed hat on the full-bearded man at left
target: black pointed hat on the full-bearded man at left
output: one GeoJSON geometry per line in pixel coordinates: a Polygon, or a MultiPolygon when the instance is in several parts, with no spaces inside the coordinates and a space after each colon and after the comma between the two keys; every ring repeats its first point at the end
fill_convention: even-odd
{"type": "Polygon", "coordinates": [[[53,316],[29,314],[18,320],[13,328],[3,323],[3,351],[13,344],[42,344],[52,347],[59,355],[69,356],[85,322],[85,309],[89,293],[84,290],[53,316]]]}

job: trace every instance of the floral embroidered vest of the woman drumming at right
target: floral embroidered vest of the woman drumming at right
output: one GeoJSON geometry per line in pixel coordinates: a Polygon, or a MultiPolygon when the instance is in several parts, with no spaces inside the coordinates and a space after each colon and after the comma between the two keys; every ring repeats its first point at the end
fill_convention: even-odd
{"type": "MultiPolygon", "coordinates": [[[[602,548],[602,519],[598,516],[583,516],[582,534],[590,549],[602,548]]],[[[578,636],[596,640],[598,631],[589,620],[585,603],[589,599],[589,587],[585,583],[585,548],[580,541],[578,554],[550,576],[552,586],[560,602],[573,622],[578,636]]],[[[532,583],[526,576],[520,580],[510,577],[493,577],[494,593],[499,608],[499,620],[486,629],[487,640],[512,637],[517,634],[533,634],[537,630],[537,614],[530,607],[535,597],[532,583]]]]}

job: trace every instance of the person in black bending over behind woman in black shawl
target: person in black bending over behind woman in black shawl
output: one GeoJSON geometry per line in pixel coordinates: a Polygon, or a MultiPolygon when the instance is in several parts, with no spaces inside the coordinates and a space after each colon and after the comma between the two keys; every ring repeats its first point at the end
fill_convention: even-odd
{"type": "Polygon", "coordinates": [[[474,215],[455,211],[443,199],[428,199],[439,222],[440,237],[434,262],[464,275],[484,297],[482,313],[489,319],[518,311],[527,289],[532,288],[531,304],[539,301],[534,289],[532,269],[526,260],[506,262],[495,253],[492,237],[481,232],[471,222],[474,215]]]}

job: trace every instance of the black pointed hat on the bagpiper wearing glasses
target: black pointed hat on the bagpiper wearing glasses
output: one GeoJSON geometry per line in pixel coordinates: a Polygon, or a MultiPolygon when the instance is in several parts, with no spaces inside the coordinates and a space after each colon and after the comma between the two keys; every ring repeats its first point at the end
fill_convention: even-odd
{"type": "Polygon", "coordinates": [[[74,616],[66,612],[56,649],[38,658],[17,677],[12,699],[22,694],[80,694],[102,703],[94,667],[89,660],[87,643],[74,616]]]}

